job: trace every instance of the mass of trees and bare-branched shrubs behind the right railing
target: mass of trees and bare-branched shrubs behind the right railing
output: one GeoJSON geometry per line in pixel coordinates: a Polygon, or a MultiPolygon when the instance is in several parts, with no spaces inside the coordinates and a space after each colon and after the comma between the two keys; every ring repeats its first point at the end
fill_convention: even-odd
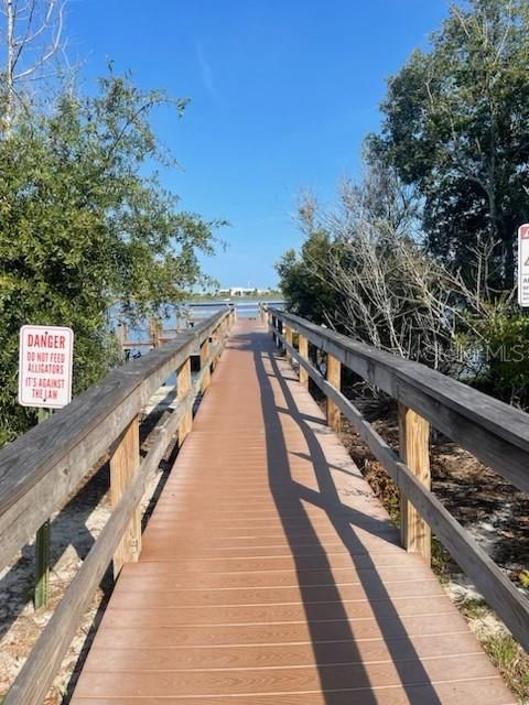
{"type": "Polygon", "coordinates": [[[288,303],[395,354],[529,403],[515,302],[529,219],[529,3],[453,4],[388,83],[363,178],[303,205],[278,264],[288,303]]]}

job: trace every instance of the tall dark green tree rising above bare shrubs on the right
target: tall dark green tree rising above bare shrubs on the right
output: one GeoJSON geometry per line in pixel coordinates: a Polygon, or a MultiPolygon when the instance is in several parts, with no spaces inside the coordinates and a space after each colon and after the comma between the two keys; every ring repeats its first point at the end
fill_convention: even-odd
{"type": "Polygon", "coordinates": [[[517,226],[529,217],[529,3],[453,6],[429,53],[389,80],[371,153],[424,203],[431,250],[467,281],[489,248],[486,284],[514,286],[517,226]]]}

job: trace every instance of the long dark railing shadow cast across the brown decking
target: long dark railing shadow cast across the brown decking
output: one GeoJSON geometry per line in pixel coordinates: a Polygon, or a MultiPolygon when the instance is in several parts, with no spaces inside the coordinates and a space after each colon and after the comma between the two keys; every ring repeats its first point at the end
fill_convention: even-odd
{"type": "MultiPolygon", "coordinates": [[[[248,343],[250,343],[250,340],[248,340],[248,343]]],[[[350,510],[350,508],[344,511],[345,507],[337,494],[325,455],[322,452],[314,431],[307,424],[304,415],[299,412],[289,386],[282,378],[277,359],[271,350],[271,344],[268,344],[264,334],[258,333],[253,335],[252,347],[256,370],[261,388],[270,489],[295,562],[298,583],[311,633],[314,658],[325,703],[336,705],[337,702],[345,702],[342,699],[344,694],[350,691],[350,696],[354,697],[353,691],[357,690],[361,691],[363,705],[371,705],[378,701],[370,688],[369,674],[363,663],[361,653],[355,640],[352,623],[349,622],[339,589],[335,583],[325,547],[320,542],[320,538],[302,505],[302,500],[315,503],[325,511],[339,541],[350,556],[352,567],[358,567],[358,555],[363,556],[361,570],[357,572],[358,581],[364,587],[373,617],[377,622],[409,703],[411,705],[424,705],[424,703],[428,703],[428,705],[440,705],[441,701],[408,636],[406,626],[400,619],[384,581],[378,574],[376,565],[361,540],[355,533],[355,524],[361,527],[365,516],[361,514],[361,512],[350,510]],[[268,361],[272,373],[267,370],[264,359],[268,361]],[[282,400],[277,400],[270,381],[271,378],[278,380],[283,398],[282,400]],[[281,425],[281,415],[285,413],[284,406],[301,430],[307,445],[310,459],[317,481],[319,491],[316,492],[310,490],[310,488],[300,487],[292,477],[288,447],[281,425]],[[285,500],[288,500],[290,507],[295,505],[295,511],[289,509],[289,513],[285,514],[285,500]],[[314,601],[313,590],[311,590],[310,585],[307,585],[305,573],[306,557],[296,554],[295,534],[299,534],[300,529],[310,538],[310,542],[314,546],[314,554],[319,556],[317,570],[321,575],[319,583],[325,584],[326,586],[325,608],[322,608],[322,603],[314,601]],[[369,582],[366,579],[366,567],[371,568],[368,571],[369,582]],[[370,594],[376,597],[370,597],[370,594]],[[391,622],[390,633],[387,628],[388,620],[391,622]],[[398,640],[396,640],[396,633],[399,637],[398,640]],[[328,644],[332,641],[341,642],[339,662],[343,665],[355,665],[350,674],[344,672],[338,674],[335,665],[330,664],[330,653],[333,653],[333,650],[330,651],[328,644]],[[402,648],[406,649],[406,660],[402,659],[401,655],[402,648]],[[412,679],[410,679],[411,672],[413,673],[412,679]]],[[[376,522],[376,520],[368,522],[366,528],[376,525],[374,521],[376,522]]],[[[387,525],[385,522],[380,523],[384,524],[384,527],[387,525]]],[[[380,532],[379,535],[384,536],[384,532],[380,532]]],[[[336,651],[334,651],[334,655],[336,658],[336,651]]],[[[358,695],[360,695],[360,693],[358,693],[358,695]]]]}

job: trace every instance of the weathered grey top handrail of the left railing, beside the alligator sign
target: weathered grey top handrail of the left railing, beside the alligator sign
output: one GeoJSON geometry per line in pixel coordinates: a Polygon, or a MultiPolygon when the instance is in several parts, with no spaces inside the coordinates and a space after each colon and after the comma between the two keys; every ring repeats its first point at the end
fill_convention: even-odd
{"type": "Polygon", "coordinates": [[[32,539],[156,389],[229,315],[217,313],[114,370],[0,451],[0,565],[32,539]]]}

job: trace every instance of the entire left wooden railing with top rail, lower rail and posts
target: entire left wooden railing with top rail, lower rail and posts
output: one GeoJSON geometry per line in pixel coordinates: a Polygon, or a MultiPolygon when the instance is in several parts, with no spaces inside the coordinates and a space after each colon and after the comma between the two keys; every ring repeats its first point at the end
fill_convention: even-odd
{"type": "MultiPolygon", "coordinates": [[[[227,308],[168,345],[112,371],[67,406],[0,451],[0,564],[35,535],[85,476],[110,456],[112,512],[22,666],[3,705],[37,705],[114,560],[115,575],[141,551],[139,503],[173,436],[191,430],[195,394],[209,383],[235,318],[227,308]],[[201,370],[192,384],[191,357],[201,370]],[[176,372],[177,404],[165,412],[140,457],[141,410],[176,372]]],[[[169,389],[168,389],[169,391],[169,389]]]]}

